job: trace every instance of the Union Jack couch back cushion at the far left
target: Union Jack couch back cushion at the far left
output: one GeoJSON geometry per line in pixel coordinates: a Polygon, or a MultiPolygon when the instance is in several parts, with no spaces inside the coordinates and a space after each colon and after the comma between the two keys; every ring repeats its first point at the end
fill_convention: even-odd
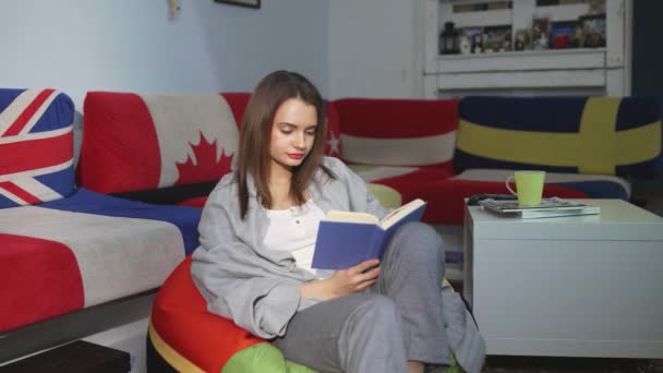
{"type": "Polygon", "coordinates": [[[73,112],[55,89],[0,89],[0,208],[72,193],[73,112]]]}

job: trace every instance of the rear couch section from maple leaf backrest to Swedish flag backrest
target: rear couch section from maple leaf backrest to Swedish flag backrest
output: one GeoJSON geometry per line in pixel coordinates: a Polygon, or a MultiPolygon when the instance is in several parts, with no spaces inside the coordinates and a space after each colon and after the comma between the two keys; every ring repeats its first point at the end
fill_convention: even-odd
{"type": "MultiPolygon", "coordinates": [[[[89,93],[81,184],[146,202],[202,206],[214,181],[232,168],[249,99],[245,93],[213,96],[224,107],[207,112],[197,111],[202,95],[89,93]],[[166,134],[186,141],[173,145],[166,134]],[[217,153],[205,154],[213,143],[217,153]],[[189,169],[197,173],[189,176],[189,169]]],[[[397,191],[402,202],[429,201],[424,220],[443,234],[451,232],[453,251],[460,245],[453,236],[462,224],[463,198],[508,193],[503,181],[513,170],[546,170],[544,196],[628,200],[630,179],[653,178],[661,163],[655,97],[347,98],[328,101],[327,112],[326,153],[366,181],[397,191]]]]}

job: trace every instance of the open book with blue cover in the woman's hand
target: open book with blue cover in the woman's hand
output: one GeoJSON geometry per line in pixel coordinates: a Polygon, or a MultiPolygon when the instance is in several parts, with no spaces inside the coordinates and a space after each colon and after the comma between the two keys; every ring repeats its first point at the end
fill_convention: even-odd
{"type": "Polygon", "coordinates": [[[321,220],[313,253],[313,268],[348,269],[370,258],[382,258],[394,232],[419,221],[426,203],[411,201],[378,220],[366,213],[330,210],[321,220]]]}

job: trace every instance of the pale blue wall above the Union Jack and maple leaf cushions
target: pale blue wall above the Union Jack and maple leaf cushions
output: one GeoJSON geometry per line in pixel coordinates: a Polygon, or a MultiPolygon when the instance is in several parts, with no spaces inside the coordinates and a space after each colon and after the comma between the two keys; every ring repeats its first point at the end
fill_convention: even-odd
{"type": "Polygon", "coordinates": [[[251,91],[294,70],[328,91],[327,1],[4,0],[0,86],[56,87],[82,108],[87,91],[251,91]]]}

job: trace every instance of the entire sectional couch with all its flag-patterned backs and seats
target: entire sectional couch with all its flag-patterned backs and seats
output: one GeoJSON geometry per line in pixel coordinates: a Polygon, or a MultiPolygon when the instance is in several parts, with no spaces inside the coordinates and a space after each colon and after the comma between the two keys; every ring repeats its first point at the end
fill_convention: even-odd
{"type": "MultiPolygon", "coordinates": [[[[91,92],[74,183],[71,99],[1,89],[0,333],[161,285],[233,169],[249,98],[91,92]],[[36,160],[16,169],[24,158],[36,160]],[[38,182],[34,198],[14,186],[25,178],[38,182]]],[[[462,260],[463,198],[507,193],[513,170],[546,170],[545,196],[628,200],[631,178],[661,169],[659,98],[346,98],[327,101],[327,117],[325,153],[387,197],[426,200],[449,265],[462,260]]]]}

